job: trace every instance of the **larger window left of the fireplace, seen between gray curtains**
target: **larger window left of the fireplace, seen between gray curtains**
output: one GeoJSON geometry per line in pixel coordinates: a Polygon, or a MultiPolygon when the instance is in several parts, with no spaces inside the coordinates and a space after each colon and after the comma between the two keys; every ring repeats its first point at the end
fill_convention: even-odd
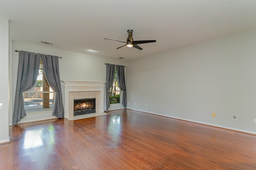
{"type": "Polygon", "coordinates": [[[36,84],[32,89],[24,92],[23,97],[24,108],[28,114],[53,111],[54,91],[44,75],[42,60],[40,61],[36,84]]]}

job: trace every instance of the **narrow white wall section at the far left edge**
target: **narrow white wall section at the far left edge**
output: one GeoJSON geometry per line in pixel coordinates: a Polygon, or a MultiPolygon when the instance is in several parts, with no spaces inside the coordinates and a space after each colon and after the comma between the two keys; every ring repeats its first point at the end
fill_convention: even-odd
{"type": "Polygon", "coordinates": [[[0,143],[9,142],[9,20],[0,17],[0,143]]]}

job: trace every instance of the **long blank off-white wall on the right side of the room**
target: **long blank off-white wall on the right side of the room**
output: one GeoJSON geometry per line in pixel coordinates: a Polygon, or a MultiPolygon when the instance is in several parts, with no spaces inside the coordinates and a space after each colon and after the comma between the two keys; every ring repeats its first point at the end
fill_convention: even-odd
{"type": "Polygon", "coordinates": [[[256,133],[256,30],[126,64],[127,108],[256,133]]]}

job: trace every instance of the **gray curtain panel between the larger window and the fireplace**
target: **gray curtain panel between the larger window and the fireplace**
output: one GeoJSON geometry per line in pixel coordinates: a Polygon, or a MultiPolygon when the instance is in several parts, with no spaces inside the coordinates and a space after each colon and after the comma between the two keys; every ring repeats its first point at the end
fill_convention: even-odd
{"type": "Polygon", "coordinates": [[[52,55],[41,55],[44,67],[44,74],[52,89],[55,91],[54,107],[52,115],[58,118],[64,117],[62,103],[62,92],[60,85],[59,57],[52,55]]]}

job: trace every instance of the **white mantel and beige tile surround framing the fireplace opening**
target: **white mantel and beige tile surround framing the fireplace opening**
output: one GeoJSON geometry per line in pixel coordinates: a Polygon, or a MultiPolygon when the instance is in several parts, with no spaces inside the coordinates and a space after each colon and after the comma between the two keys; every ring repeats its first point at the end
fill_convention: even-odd
{"type": "Polygon", "coordinates": [[[104,83],[106,81],[72,81],[64,82],[64,117],[74,116],[74,99],[96,98],[96,113],[104,112],[104,83]]]}

